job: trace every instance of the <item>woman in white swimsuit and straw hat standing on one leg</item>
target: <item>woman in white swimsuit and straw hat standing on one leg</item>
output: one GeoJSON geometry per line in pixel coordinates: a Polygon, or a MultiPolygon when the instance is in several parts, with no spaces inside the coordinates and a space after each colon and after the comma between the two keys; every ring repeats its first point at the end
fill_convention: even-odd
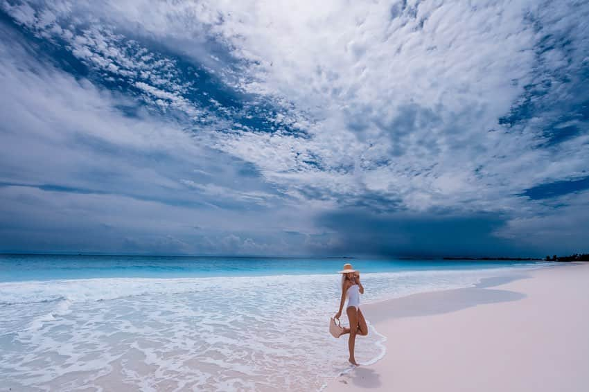
{"type": "Polygon", "coordinates": [[[350,327],[344,328],[342,335],[349,333],[348,348],[350,350],[349,362],[354,366],[358,366],[354,358],[354,344],[356,335],[366,336],[368,335],[368,326],[366,325],[366,319],[364,314],[360,310],[360,294],[364,294],[364,287],[360,283],[360,272],[352,268],[351,264],[345,264],[344,269],[340,271],[342,274],[342,299],[340,301],[340,311],[335,314],[335,319],[340,319],[342,316],[342,309],[344,308],[344,302],[346,297],[348,299],[348,305],[346,308],[346,314],[350,321],[350,327]]]}

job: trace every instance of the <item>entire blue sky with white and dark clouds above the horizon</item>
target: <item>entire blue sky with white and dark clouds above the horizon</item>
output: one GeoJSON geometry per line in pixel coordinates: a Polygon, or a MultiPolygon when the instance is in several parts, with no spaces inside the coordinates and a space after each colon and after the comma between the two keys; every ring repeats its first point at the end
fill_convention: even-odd
{"type": "Polygon", "coordinates": [[[0,0],[0,251],[589,251],[589,3],[0,0]]]}

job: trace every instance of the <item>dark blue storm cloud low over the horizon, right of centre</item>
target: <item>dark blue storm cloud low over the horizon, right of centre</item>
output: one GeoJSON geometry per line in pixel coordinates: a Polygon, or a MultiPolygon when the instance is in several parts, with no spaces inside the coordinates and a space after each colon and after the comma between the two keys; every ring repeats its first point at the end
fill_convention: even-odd
{"type": "Polygon", "coordinates": [[[337,233],[331,251],[379,256],[513,256],[522,249],[495,231],[506,219],[491,214],[327,213],[317,224],[337,233]]]}

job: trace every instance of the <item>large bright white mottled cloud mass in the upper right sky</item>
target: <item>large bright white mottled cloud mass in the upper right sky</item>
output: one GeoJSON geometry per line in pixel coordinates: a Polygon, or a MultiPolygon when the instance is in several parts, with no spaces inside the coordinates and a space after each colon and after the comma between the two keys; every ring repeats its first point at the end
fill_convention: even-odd
{"type": "MultiPolygon", "coordinates": [[[[310,139],[202,135],[293,194],[378,191],[416,210],[495,209],[554,174],[588,169],[579,149],[538,148],[545,123],[512,133],[498,124],[533,81],[539,40],[564,30],[550,22],[579,21],[572,3],[202,1],[159,3],[148,14],[122,7],[119,18],[159,37],[204,35],[225,44],[243,61],[240,87],[310,118],[310,139]],[[547,25],[540,33],[534,18],[547,25]],[[493,198],[495,206],[487,202],[493,198]]],[[[543,56],[547,71],[564,64],[557,48],[543,56]]]]}

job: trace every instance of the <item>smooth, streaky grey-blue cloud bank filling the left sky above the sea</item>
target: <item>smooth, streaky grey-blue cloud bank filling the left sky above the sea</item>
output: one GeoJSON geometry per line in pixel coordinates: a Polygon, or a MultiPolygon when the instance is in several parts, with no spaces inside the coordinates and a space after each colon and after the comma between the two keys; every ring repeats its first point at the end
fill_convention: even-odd
{"type": "Polygon", "coordinates": [[[301,251],[281,251],[276,233],[281,224],[310,231],[310,214],[282,210],[272,186],[240,173],[245,162],[55,69],[3,32],[0,249],[301,251]],[[121,105],[137,112],[125,116],[121,105]],[[243,244],[225,249],[230,235],[243,244]]]}

